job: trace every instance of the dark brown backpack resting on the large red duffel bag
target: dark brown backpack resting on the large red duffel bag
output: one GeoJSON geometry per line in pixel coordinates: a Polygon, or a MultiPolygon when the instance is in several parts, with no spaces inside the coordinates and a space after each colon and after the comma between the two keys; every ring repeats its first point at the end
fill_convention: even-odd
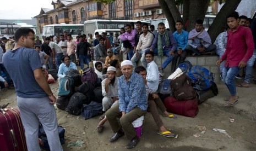
{"type": "Polygon", "coordinates": [[[171,81],[171,88],[173,96],[177,100],[192,100],[197,97],[195,90],[192,88],[191,81],[187,75],[179,75],[176,79],[171,81]]]}

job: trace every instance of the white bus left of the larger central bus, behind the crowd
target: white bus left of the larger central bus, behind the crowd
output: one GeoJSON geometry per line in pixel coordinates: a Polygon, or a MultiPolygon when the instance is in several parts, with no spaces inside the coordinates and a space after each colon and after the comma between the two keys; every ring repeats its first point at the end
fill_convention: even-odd
{"type": "Polygon", "coordinates": [[[78,33],[84,33],[83,31],[84,25],[83,24],[52,24],[52,25],[45,25],[43,26],[43,33],[42,36],[49,37],[49,36],[58,36],[63,34],[64,31],[67,34],[71,34],[73,39],[78,35],[78,33]]]}

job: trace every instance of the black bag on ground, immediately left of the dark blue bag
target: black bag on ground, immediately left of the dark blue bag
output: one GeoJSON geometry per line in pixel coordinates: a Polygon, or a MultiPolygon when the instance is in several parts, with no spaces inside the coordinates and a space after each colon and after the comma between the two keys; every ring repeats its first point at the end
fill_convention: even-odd
{"type": "Polygon", "coordinates": [[[75,92],[70,97],[66,111],[70,114],[79,115],[83,111],[83,104],[86,103],[88,103],[88,98],[80,92],[75,92]]]}

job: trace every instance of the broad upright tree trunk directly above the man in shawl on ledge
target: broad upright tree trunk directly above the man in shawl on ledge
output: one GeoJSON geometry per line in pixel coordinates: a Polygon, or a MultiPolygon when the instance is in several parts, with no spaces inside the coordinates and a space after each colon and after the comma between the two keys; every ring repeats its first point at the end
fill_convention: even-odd
{"type": "Polygon", "coordinates": [[[210,0],[190,0],[187,31],[191,31],[195,27],[196,20],[204,20],[209,3],[210,0]]]}

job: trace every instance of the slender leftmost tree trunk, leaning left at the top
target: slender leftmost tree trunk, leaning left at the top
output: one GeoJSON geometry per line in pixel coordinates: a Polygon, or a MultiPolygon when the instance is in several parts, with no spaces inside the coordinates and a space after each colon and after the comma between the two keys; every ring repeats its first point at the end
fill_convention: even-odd
{"type": "Polygon", "coordinates": [[[175,21],[172,17],[170,9],[168,8],[167,3],[165,2],[165,0],[158,0],[158,2],[159,2],[160,6],[162,8],[162,11],[164,12],[164,14],[166,16],[166,19],[168,20],[170,31],[174,32],[173,29],[175,29],[175,21]]]}

